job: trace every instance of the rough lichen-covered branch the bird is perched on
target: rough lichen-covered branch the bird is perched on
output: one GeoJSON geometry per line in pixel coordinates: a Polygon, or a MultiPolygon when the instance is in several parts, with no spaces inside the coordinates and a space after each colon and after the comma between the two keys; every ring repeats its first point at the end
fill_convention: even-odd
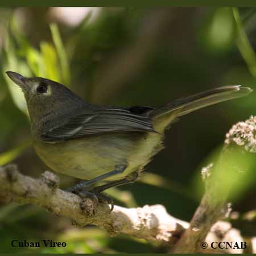
{"type": "Polygon", "coordinates": [[[6,203],[35,204],[49,212],[71,218],[79,226],[94,224],[112,236],[119,233],[169,242],[188,227],[188,223],[170,216],[162,205],[145,205],[143,208],[95,204],[73,193],[58,188],[59,179],[51,172],[44,172],[40,179],[33,179],[18,172],[16,166],[0,168],[0,198],[6,203]]]}

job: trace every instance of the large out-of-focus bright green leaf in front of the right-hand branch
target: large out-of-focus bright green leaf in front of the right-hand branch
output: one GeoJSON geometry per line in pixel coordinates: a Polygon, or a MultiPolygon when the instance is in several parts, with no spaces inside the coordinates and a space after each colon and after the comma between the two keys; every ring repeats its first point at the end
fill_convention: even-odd
{"type": "MultiPolygon", "coordinates": [[[[229,188],[229,200],[240,200],[243,195],[255,185],[255,155],[242,150],[242,146],[229,146],[225,149],[222,145],[213,150],[200,166],[213,163],[210,172],[214,173],[214,179],[218,182],[218,198],[226,196],[229,188]]],[[[201,170],[197,172],[193,182],[193,191],[201,197],[204,193],[204,184],[201,180],[201,170]]]]}

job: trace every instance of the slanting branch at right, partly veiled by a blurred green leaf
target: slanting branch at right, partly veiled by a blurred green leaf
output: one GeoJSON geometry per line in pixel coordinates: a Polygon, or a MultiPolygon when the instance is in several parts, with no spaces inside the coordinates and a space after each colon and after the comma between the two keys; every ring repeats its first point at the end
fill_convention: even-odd
{"type": "Polygon", "coordinates": [[[177,242],[174,252],[200,251],[201,242],[204,241],[213,224],[229,216],[231,208],[230,204],[226,203],[226,199],[229,190],[236,184],[236,178],[240,175],[241,158],[238,156],[242,154],[250,158],[252,152],[256,152],[256,117],[253,116],[245,122],[238,122],[226,134],[225,146],[215,168],[212,168],[213,164],[203,168],[205,194],[189,228],[177,242]],[[228,182],[224,182],[225,177],[229,179],[228,182]]]}

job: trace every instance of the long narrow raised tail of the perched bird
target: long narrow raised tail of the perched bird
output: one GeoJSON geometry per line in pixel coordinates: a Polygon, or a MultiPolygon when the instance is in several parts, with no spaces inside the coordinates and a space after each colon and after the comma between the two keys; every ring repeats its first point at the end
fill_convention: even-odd
{"type": "Polygon", "coordinates": [[[162,108],[154,109],[151,112],[153,124],[156,131],[163,130],[175,118],[188,114],[205,106],[213,105],[218,102],[232,100],[246,96],[253,90],[240,85],[223,86],[205,92],[193,94],[189,97],[179,98],[172,101],[162,108]]]}

